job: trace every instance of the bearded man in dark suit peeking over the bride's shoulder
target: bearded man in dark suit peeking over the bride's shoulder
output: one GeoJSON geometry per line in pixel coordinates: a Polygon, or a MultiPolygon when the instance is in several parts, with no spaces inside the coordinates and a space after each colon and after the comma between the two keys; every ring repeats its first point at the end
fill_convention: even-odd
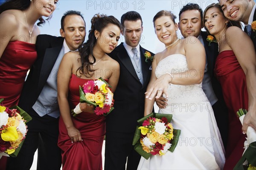
{"type": "MultiPolygon", "coordinates": [[[[179,29],[183,37],[195,36],[198,37],[198,40],[204,45],[206,52],[206,66],[204,70],[203,78],[203,90],[207,95],[207,98],[212,105],[214,111],[215,119],[218,125],[218,128],[221,133],[221,138],[224,146],[227,144],[228,137],[228,115],[227,107],[224,102],[222,95],[221,85],[214,76],[214,65],[215,59],[218,55],[218,44],[207,42],[207,32],[201,31],[203,28],[202,23],[203,11],[195,3],[188,3],[186,6],[180,10],[179,13],[179,29]]],[[[157,99],[157,105],[160,108],[165,107],[163,98],[157,99]]]]}

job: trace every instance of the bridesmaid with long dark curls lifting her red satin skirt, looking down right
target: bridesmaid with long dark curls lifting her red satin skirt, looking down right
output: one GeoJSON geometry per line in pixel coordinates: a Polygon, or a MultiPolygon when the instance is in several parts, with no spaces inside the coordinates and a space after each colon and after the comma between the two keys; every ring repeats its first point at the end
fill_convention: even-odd
{"type": "Polygon", "coordinates": [[[70,110],[79,104],[79,85],[104,78],[114,92],[119,80],[119,63],[109,57],[120,38],[120,23],[113,16],[96,14],[91,20],[88,40],[79,52],[64,55],[58,72],[58,146],[62,150],[63,170],[101,170],[105,116],[94,107],[80,104],[83,111],[73,117],[70,110]]]}

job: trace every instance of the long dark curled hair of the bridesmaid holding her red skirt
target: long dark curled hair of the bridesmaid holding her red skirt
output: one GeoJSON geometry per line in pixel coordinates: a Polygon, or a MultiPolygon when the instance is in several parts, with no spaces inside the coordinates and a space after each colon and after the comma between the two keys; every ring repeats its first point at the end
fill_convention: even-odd
{"type": "Polygon", "coordinates": [[[93,55],[93,47],[96,44],[96,37],[94,35],[95,30],[99,31],[99,33],[102,33],[102,30],[105,29],[109,24],[113,24],[119,27],[120,22],[113,16],[107,16],[104,14],[95,14],[93,18],[91,19],[91,29],[89,31],[88,40],[86,43],[82,44],[79,47],[79,53],[81,56],[81,63],[82,65],[76,70],[76,72],[79,71],[81,75],[85,75],[86,77],[92,77],[94,72],[94,69],[90,68],[90,64],[93,64],[96,62],[96,58],[93,55]],[[89,60],[89,55],[93,56],[93,63],[89,60]]]}

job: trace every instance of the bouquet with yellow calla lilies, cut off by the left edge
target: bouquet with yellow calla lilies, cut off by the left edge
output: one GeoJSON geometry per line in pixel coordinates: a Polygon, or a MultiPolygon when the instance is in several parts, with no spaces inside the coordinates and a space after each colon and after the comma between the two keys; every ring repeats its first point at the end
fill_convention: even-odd
{"type": "MultiPolygon", "coordinates": [[[[0,99],[0,103],[3,99],[0,99]]],[[[26,123],[32,118],[20,107],[0,105],[0,157],[16,157],[26,137],[26,123]]]]}

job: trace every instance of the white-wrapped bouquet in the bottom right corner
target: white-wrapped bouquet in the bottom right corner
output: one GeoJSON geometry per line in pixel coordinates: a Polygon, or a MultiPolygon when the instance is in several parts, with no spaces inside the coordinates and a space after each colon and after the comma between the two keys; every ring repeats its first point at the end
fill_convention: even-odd
{"type": "MultiPolygon", "coordinates": [[[[247,113],[246,109],[239,109],[237,115],[239,116],[239,120],[241,124],[243,124],[244,116],[247,113]]],[[[255,170],[256,169],[256,131],[248,126],[247,132],[247,141],[244,141],[244,153],[241,159],[238,161],[234,170],[255,170]]]]}

